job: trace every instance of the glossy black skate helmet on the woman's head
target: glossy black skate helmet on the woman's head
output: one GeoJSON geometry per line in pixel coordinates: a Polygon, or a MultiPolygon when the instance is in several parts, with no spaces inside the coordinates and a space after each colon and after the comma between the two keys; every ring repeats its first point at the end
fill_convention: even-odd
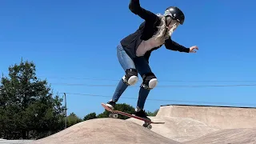
{"type": "Polygon", "coordinates": [[[170,16],[174,20],[177,20],[181,25],[185,21],[185,15],[183,14],[182,10],[178,9],[176,6],[170,6],[165,11],[165,16],[170,16]]]}

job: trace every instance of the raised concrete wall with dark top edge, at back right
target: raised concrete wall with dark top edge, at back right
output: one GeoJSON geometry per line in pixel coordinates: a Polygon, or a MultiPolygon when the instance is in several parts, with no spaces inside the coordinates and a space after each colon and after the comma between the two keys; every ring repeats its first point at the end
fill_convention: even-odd
{"type": "Polygon", "coordinates": [[[256,109],[228,106],[161,106],[157,118],[192,118],[216,129],[256,127],[256,109]]]}

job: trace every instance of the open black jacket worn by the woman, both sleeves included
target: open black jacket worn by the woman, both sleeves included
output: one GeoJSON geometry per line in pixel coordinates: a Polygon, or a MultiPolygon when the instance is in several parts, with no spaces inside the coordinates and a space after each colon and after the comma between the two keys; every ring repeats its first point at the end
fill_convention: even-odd
{"type": "MultiPolygon", "coordinates": [[[[152,36],[158,30],[157,26],[160,25],[161,19],[152,12],[143,9],[140,6],[139,0],[130,0],[129,9],[134,13],[137,14],[139,17],[144,19],[145,21],[139,26],[138,30],[136,30],[133,34],[128,35],[126,38],[121,40],[121,45],[126,50],[126,53],[130,56],[130,58],[134,59],[137,58],[136,50],[138,46],[142,42],[142,40],[148,40],[152,38],[152,36]]],[[[180,52],[188,53],[190,51],[189,48],[185,46],[179,45],[177,42],[171,40],[171,38],[166,39],[165,44],[166,49],[168,50],[178,50],[180,52]]],[[[161,45],[162,46],[162,45],[161,45]]],[[[154,47],[153,49],[146,52],[144,57],[147,61],[149,61],[150,54],[153,50],[157,50],[161,46],[154,47]]]]}

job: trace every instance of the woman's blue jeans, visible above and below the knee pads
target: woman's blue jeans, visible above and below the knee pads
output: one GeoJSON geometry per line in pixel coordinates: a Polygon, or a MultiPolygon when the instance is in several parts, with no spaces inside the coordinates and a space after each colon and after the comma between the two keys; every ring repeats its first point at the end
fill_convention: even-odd
{"type": "MultiPolygon", "coordinates": [[[[133,61],[129,57],[129,55],[126,54],[126,51],[123,50],[121,44],[119,44],[117,47],[117,56],[118,56],[118,61],[120,62],[123,70],[134,68],[138,71],[138,74],[140,74],[141,77],[143,74],[151,73],[151,69],[150,69],[149,63],[146,61],[146,58],[138,57],[138,58],[134,58],[134,61],[133,61]]],[[[121,97],[122,93],[126,90],[127,87],[128,85],[126,85],[126,83],[123,82],[121,78],[121,80],[118,82],[118,86],[116,90],[114,91],[112,100],[114,102],[118,102],[118,99],[121,97]]],[[[137,102],[138,108],[140,109],[144,108],[146,98],[149,93],[150,93],[150,90],[146,90],[142,87],[140,88],[138,93],[138,102],[137,102]]]]}

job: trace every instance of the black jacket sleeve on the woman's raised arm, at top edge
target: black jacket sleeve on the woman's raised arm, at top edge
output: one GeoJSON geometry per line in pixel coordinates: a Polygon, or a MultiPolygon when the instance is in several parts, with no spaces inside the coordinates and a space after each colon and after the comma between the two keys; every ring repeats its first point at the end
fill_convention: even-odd
{"type": "Polygon", "coordinates": [[[140,6],[139,0],[130,0],[129,9],[134,14],[143,18],[145,21],[154,22],[158,16],[149,10],[145,10],[140,6]]]}

